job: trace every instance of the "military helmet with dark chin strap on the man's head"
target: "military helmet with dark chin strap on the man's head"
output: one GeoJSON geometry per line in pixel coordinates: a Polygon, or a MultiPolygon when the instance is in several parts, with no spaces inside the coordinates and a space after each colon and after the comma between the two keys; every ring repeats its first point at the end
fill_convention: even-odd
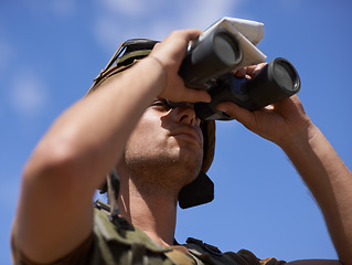
{"type": "MultiPolygon", "coordinates": [[[[100,74],[94,80],[87,94],[97,89],[107,78],[121,73],[136,64],[138,60],[148,56],[158,42],[159,41],[149,39],[132,39],[122,42],[105,68],[102,70],[100,74]]],[[[206,176],[206,171],[211,167],[214,158],[215,121],[203,120],[201,123],[201,129],[204,137],[202,169],[193,182],[181,189],[179,193],[179,205],[182,209],[207,203],[214,199],[214,183],[206,176]]],[[[103,193],[107,191],[106,186],[100,189],[100,192],[102,191],[103,193]]]]}

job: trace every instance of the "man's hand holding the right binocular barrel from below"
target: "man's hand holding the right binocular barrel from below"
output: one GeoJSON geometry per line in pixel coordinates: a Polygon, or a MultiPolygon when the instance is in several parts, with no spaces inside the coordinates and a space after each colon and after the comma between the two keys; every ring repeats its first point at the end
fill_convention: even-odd
{"type": "MultiPolygon", "coordinates": [[[[265,65],[248,66],[234,74],[238,77],[252,78],[265,65]]],[[[291,96],[255,112],[249,112],[231,102],[218,104],[217,109],[227,113],[249,130],[280,147],[294,144],[294,139],[297,137],[310,138],[314,134],[311,130],[314,126],[306,115],[297,96],[291,96]]]]}

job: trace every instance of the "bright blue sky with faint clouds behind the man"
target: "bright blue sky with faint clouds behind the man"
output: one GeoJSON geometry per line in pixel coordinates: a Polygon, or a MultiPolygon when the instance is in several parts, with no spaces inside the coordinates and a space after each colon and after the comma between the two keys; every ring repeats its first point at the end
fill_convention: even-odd
{"type": "MultiPolygon", "coordinates": [[[[175,29],[206,29],[222,17],[260,21],[258,47],[294,63],[306,112],[352,168],[352,3],[349,0],[52,0],[0,8],[0,264],[10,264],[9,232],[22,167],[63,109],[82,97],[117,45],[161,40],[175,29]]],[[[271,142],[236,121],[217,123],[214,202],[179,211],[177,239],[259,257],[335,258],[309,190],[271,142]]]]}

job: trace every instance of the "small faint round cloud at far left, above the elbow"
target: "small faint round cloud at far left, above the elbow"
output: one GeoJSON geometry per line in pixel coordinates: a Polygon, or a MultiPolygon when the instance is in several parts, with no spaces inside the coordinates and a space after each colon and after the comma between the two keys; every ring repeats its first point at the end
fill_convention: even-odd
{"type": "Polygon", "coordinates": [[[24,70],[15,76],[11,98],[17,112],[21,115],[34,116],[44,110],[47,92],[40,75],[24,70]]]}

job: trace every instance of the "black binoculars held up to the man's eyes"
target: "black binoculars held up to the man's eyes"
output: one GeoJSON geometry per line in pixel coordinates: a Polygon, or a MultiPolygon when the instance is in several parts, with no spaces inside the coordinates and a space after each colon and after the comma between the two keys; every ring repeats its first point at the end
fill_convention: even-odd
{"type": "Polygon", "coordinates": [[[206,89],[212,97],[211,103],[194,105],[199,118],[233,119],[216,109],[221,102],[256,110],[299,92],[299,75],[282,57],[269,62],[250,80],[236,77],[233,72],[244,66],[246,53],[238,36],[224,28],[215,28],[190,44],[179,74],[188,87],[206,89]]]}

